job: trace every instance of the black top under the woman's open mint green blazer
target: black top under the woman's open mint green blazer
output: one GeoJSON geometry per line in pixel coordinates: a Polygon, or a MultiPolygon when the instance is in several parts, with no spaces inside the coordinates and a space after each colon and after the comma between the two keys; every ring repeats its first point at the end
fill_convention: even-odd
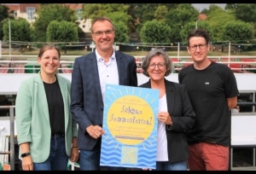
{"type": "Polygon", "coordinates": [[[51,134],[65,134],[64,103],[58,80],[53,84],[44,82],[44,89],[49,107],[51,134]]]}

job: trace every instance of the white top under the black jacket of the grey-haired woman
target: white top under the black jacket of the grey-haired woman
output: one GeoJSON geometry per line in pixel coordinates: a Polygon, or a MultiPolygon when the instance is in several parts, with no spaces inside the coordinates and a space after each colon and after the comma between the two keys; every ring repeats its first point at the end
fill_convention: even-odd
{"type": "MultiPolygon", "coordinates": [[[[159,112],[167,112],[166,95],[159,99],[159,112]]],[[[167,150],[166,124],[158,121],[156,161],[169,161],[167,150]]]]}

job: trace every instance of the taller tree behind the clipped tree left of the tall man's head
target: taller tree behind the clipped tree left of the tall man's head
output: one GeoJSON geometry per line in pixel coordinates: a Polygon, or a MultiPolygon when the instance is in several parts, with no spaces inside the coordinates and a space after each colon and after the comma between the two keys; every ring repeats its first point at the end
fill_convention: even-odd
{"type": "Polygon", "coordinates": [[[38,41],[46,41],[45,32],[51,20],[66,20],[75,23],[77,16],[75,10],[70,9],[68,5],[41,3],[38,9],[38,17],[35,17],[35,22],[33,23],[38,41]]]}

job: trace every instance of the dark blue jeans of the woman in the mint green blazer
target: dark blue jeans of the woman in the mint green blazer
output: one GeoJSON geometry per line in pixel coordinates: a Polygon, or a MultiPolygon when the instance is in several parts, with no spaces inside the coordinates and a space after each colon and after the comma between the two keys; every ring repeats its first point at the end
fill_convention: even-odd
{"type": "Polygon", "coordinates": [[[34,171],[67,171],[67,162],[65,136],[56,135],[50,138],[48,159],[42,163],[33,163],[33,167],[34,171]]]}

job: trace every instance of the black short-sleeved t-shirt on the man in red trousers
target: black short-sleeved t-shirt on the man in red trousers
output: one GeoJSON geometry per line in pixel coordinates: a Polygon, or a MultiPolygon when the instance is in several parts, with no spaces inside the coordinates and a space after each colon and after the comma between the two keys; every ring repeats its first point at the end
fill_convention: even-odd
{"type": "Polygon", "coordinates": [[[228,146],[231,118],[226,98],[239,95],[230,67],[212,62],[207,68],[196,70],[192,64],[181,69],[178,81],[185,84],[195,110],[195,126],[187,131],[189,144],[214,138],[218,144],[228,146]]]}

